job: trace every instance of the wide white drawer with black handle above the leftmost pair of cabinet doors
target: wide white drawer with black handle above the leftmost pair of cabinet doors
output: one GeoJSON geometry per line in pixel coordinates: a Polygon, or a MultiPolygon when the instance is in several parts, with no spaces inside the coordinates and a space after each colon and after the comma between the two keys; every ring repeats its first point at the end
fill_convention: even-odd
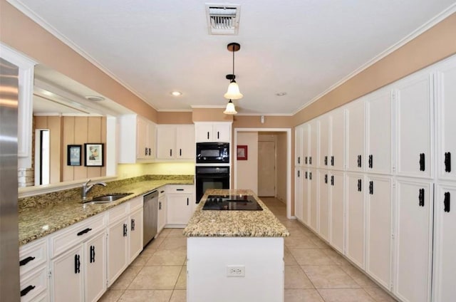
{"type": "Polygon", "coordinates": [[[70,249],[71,246],[86,241],[105,227],[105,214],[102,213],[58,231],[58,234],[51,236],[51,258],[70,249]]]}

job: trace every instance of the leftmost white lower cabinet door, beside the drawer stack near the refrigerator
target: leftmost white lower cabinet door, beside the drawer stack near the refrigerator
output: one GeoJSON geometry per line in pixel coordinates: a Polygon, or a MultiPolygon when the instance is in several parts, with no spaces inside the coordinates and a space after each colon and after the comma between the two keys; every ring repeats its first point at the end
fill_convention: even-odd
{"type": "Polygon", "coordinates": [[[51,260],[52,301],[84,301],[83,245],[51,260]]]}

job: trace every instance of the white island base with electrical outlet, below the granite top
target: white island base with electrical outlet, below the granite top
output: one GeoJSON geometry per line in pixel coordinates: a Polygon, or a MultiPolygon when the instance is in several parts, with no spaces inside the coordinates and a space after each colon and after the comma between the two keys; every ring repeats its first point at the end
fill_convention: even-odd
{"type": "Polygon", "coordinates": [[[284,238],[187,237],[187,302],[215,301],[283,302],[284,238]]]}

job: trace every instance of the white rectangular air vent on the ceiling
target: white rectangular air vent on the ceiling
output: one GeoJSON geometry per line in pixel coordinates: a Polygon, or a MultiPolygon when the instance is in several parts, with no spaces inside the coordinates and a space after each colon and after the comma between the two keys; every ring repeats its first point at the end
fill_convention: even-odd
{"type": "Polygon", "coordinates": [[[240,10],[238,4],[206,4],[209,35],[237,35],[240,10]]]}

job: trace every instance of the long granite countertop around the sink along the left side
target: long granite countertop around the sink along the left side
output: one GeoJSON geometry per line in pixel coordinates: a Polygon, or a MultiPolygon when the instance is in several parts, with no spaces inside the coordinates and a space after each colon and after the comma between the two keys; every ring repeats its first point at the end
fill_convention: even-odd
{"type": "Polygon", "coordinates": [[[123,202],[141,196],[166,184],[193,184],[193,177],[183,175],[170,179],[136,178],[135,181],[108,182],[106,187],[95,186],[88,197],[93,198],[103,194],[133,193],[115,202],[105,204],[83,204],[81,188],[69,189],[65,192],[26,197],[19,199],[19,246],[33,240],[76,224],[96,214],[111,209],[123,202]]]}

